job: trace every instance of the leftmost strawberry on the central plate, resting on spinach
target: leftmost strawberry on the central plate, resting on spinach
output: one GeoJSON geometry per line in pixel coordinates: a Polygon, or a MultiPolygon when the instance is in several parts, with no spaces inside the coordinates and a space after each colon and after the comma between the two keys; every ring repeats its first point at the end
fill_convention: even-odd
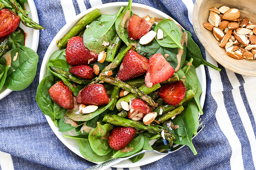
{"type": "Polygon", "coordinates": [[[50,89],[49,94],[53,101],[60,105],[62,108],[72,110],[74,109],[75,102],[72,90],[64,84],[64,82],[58,81],[50,89]]]}

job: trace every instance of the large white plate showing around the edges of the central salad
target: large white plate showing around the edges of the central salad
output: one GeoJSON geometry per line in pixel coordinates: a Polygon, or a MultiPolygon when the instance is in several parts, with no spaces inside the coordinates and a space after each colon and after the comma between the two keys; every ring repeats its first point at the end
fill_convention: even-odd
{"type": "MultiPolygon", "coordinates": [[[[49,45],[49,47],[48,47],[48,49],[45,53],[45,56],[44,56],[44,59],[43,59],[43,62],[42,62],[42,67],[41,67],[41,70],[40,70],[39,81],[41,81],[43,79],[43,77],[46,76],[47,61],[49,60],[51,54],[54,51],[58,50],[58,47],[56,45],[56,41],[61,39],[73,26],[75,26],[75,24],[85,14],[89,13],[90,11],[92,11],[95,8],[99,9],[99,11],[102,14],[115,14],[115,13],[117,13],[117,11],[120,9],[121,6],[126,7],[127,2],[114,2],[114,3],[99,5],[97,7],[88,9],[88,10],[80,13],[79,15],[77,15],[74,18],[73,22],[69,22],[66,25],[64,25],[63,28],[53,38],[53,41],[51,42],[51,44],[49,45]]],[[[142,4],[137,4],[137,3],[132,4],[132,11],[134,13],[138,14],[140,17],[150,15],[150,17],[170,18],[168,15],[159,11],[158,9],[154,9],[152,7],[142,5],[142,4]]],[[[199,81],[200,81],[200,83],[202,85],[202,89],[203,89],[203,93],[200,97],[200,103],[203,106],[204,99],[205,99],[205,91],[206,91],[206,78],[205,78],[205,70],[204,70],[203,65],[198,67],[196,69],[196,71],[197,71],[198,78],[199,78],[199,81]]],[[[54,126],[53,121],[51,120],[51,118],[49,116],[45,116],[45,117],[46,117],[50,127],[53,129],[53,132],[59,138],[59,140],[63,144],[65,144],[70,150],[72,150],[75,154],[77,154],[77,155],[79,155],[80,157],[83,158],[83,156],[79,152],[77,142],[75,140],[62,137],[63,135],[73,135],[73,136],[77,135],[75,133],[75,129],[73,129],[72,131],[68,131],[68,132],[59,132],[58,127],[54,126]]],[[[153,152],[147,152],[147,153],[145,153],[145,156],[138,162],[132,163],[130,160],[126,160],[126,161],[123,161],[123,162],[113,166],[113,167],[128,168],[128,167],[141,166],[141,165],[145,165],[145,164],[157,161],[157,160],[163,158],[164,156],[166,156],[166,155],[160,155],[160,154],[153,153],[153,152]]],[[[95,163],[99,163],[99,162],[95,162],[95,163]]]]}

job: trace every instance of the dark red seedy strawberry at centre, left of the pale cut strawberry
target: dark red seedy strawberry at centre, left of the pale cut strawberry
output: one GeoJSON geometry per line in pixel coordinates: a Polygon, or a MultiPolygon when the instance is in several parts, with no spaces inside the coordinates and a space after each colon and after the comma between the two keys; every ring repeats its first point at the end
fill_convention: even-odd
{"type": "Polygon", "coordinates": [[[130,50],[124,57],[117,78],[125,81],[143,75],[148,68],[148,59],[130,50]]]}

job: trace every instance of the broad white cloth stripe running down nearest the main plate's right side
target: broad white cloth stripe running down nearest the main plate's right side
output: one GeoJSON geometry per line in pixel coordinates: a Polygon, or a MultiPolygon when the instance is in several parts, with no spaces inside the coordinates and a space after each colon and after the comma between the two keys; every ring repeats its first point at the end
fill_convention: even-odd
{"type": "MultiPolygon", "coordinates": [[[[209,55],[208,52],[205,53],[207,61],[217,66],[217,62],[209,55]]],[[[224,105],[224,97],[223,97],[223,85],[221,81],[220,73],[217,70],[209,68],[209,74],[211,77],[211,93],[212,97],[217,103],[216,110],[216,120],[221,128],[222,132],[226,136],[230,147],[232,149],[231,157],[230,157],[230,166],[231,169],[244,169],[243,158],[242,158],[242,147],[241,143],[234,131],[234,128],[231,124],[231,121],[228,117],[227,111],[224,105]]]]}

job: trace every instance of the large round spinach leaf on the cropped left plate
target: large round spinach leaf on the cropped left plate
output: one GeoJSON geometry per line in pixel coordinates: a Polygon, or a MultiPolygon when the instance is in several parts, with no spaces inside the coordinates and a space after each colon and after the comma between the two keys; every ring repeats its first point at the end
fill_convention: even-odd
{"type": "Polygon", "coordinates": [[[36,52],[26,46],[23,46],[22,50],[13,49],[0,59],[0,64],[5,65],[5,57],[11,57],[11,67],[8,70],[4,86],[14,91],[27,88],[32,83],[37,69],[38,55],[36,52]],[[17,59],[13,61],[16,55],[17,59]]]}

